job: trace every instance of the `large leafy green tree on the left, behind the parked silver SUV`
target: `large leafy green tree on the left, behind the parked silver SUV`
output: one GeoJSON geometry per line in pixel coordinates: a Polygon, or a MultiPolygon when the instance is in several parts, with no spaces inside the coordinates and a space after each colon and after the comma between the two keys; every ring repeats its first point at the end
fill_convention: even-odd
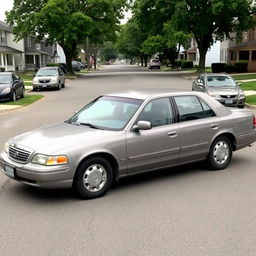
{"type": "Polygon", "coordinates": [[[86,37],[117,30],[126,0],[14,0],[7,12],[7,22],[19,40],[33,35],[57,42],[66,55],[67,67],[72,72],[72,58],[86,37]]]}

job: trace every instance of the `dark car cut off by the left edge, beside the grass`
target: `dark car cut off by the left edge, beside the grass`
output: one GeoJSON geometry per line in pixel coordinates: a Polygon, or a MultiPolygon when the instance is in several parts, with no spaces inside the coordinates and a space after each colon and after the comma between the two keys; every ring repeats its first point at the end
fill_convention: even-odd
{"type": "Polygon", "coordinates": [[[25,97],[23,80],[13,72],[0,73],[0,100],[16,101],[17,97],[25,97]]]}

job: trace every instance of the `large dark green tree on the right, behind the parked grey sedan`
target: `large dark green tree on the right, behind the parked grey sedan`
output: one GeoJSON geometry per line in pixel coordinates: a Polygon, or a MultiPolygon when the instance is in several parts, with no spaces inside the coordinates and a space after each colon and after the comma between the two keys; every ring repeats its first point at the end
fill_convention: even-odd
{"type": "Polygon", "coordinates": [[[254,27],[252,0],[176,0],[172,24],[175,30],[191,33],[200,54],[198,72],[205,69],[207,50],[215,40],[239,39],[242,31],[254,27]]]}

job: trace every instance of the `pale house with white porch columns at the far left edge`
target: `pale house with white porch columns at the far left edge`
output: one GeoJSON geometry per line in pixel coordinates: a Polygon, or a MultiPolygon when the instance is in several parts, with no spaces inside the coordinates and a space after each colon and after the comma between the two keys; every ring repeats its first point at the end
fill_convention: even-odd
{"type": "Polygon", "coordinates": [[[16,42],[10,26],[0,21],[0,68],[5,71],[24,69],[23,40],[16,42]]]}

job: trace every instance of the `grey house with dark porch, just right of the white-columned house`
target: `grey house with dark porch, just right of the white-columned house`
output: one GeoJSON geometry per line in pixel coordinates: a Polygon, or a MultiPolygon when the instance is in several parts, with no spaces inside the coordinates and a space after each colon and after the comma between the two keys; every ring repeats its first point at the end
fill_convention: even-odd
{"type": "Polygon", "coordinates": [[[59,62],[57,44],[47,44],[45,40],[37,42],[33,36],[24,38],[25,69],[36,70],[45,67],[47,63],[59,62]]]}

